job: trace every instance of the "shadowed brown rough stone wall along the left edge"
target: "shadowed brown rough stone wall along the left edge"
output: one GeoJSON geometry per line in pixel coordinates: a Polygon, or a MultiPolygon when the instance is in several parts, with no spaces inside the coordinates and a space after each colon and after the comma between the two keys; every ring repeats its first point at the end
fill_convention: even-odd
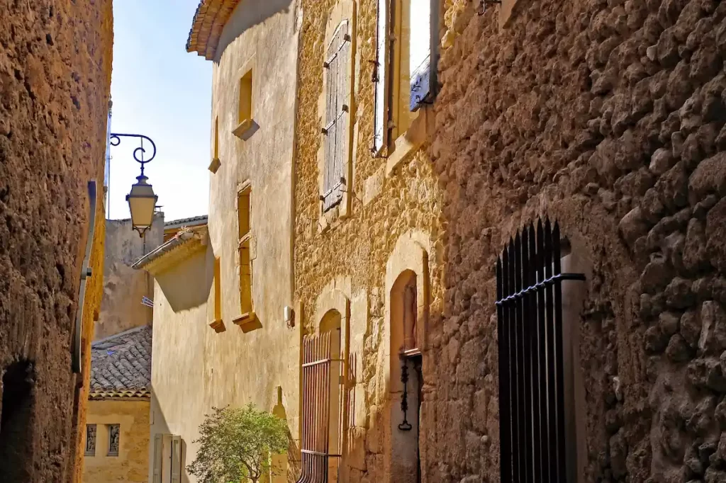
{"type": "MultiPolygon", "coordinates": [[[[2,0],[0,12],[0,368],[33,367],[17,481],[65,482],[77,463],[73,420],[83,418],[74,407],[70,342],[89,223],[86,183],[103,180],[111,2],[2,0]]],[[[103,245],[98,220],[95,253],[103,245]]],[[[86,315],[101,295],[102,261],[92,263],[86,315]]],[[[84,335],[89,344],[91,332],[84,335]]],[[[82,406],[86,398],[76,400],[82,406]]]]}

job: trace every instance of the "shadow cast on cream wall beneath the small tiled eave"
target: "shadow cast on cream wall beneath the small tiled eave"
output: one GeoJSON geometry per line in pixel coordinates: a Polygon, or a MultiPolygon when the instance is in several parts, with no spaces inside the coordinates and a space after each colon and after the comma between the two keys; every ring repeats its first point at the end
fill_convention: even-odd
{"type": "Polygon", "coordinates": [[[208,268],[207,263],[207,251],[198,252],[187,262],[179,263],[156,276],[159,288],[174,313],[199,307],[207,302],[213,282],[213,271],[208,268]]]}

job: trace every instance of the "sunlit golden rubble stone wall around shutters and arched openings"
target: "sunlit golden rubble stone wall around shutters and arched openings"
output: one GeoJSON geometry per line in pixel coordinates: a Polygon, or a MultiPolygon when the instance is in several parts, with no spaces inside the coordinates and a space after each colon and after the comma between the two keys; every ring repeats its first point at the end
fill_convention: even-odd
{"type": "MultiPolygon", "coordinates": [[[[386,177],[386,158],[371,156],[374,85],[369,60],[375,59],[378,1],[356,1],[351,214],[320,232],[317,155],[322,120],[318,100],[323,86],[327,16],[334,5],[335,1],[330,0],[301,2],[295,146],[295,298],[302,308],[307,333],[314,333],[320,323],[314,313],[317,300],[327,287],[335,286],[351,301],[350,353],[358,363],[351,366],[356,373],[356,389],[351,394],[356,392],[356,398],[355,402],[348,398],[353,422],[348,430],[348,455],[343,460],[341,481],[373,482],[383,478],[384,433],[380,426],[385,420],[381,404],[386,378],[380,352],[385,350],[382,334],[387,323],[383,316],[386,263],[402,235],[412,231],[423,234],[430,247],[431,323],[438,323],[444,297],[440,258],[444,247],[442,194],[425,149],[412,152],[409,160],[390,177],[386,177]],[[362,327],[356,320],[362,320],[362,327]]],[[[425,361],[425,373],[431,370],[431,362],[425,361]]],[[[429,389],[424,388],[427,394],[429,389]]]]}

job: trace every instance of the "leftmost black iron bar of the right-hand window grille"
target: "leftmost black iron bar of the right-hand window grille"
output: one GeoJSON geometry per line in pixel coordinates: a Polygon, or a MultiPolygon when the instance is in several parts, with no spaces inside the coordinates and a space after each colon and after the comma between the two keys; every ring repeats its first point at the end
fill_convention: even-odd
{"type": "MultiPolygon", "coordinates": [[[[506,258],[505,258],[506,260],[506,258]]],[[[497,300],[505,295],[505,269],[502,268],[502,259],[497,257],[497,300]]],[[[512,483],[512,437],[510,432],[510,373],[509,373],[509,347],[505,331],[504,305],[497,305],[497,339],[499,347],[499,471],[500,482],[512,483]]]]}

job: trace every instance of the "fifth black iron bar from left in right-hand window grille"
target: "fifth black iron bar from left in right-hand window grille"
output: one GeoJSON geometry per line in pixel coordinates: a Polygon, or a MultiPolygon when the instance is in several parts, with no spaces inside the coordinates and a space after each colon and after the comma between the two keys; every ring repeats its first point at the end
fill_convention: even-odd
{"type": "MultiPolygon", "coordinates": [[[[529,260],[529,233],[526,228],[522,230],[522,285],[521,289],[527,289],[531,286],[531,279],[529,277],[530,271],[530,260],[529,260]]],[[[524,426],[526,429],[526,437],[524,439],[523,450],[525,452],[526,466],[526,482],[534,483],[534,469],[533,469],[533,453],[532,448],[532,351],[531,351],[531,317],[529,313],[529,294],[521,297],[521,317],[522,317],[522,347],[523,347],[523,382],[524,382],[524,399],[525,399],[525,412],[524,412],[524,426]]]]}

